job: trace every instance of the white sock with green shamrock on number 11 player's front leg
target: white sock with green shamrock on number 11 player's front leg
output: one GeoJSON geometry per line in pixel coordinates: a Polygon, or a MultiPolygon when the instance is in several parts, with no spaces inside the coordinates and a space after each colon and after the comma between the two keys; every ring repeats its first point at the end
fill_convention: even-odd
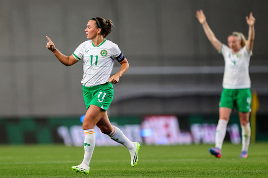
{"type": "Polygon", "coordinates": [[[91,160],[95,148],[96,137],[94,129],[84,130],[84,134],[85,134],[85,141],[84,141],[85,155],[84,160],[81,164],[89,167],[89,162],[91,160]]]}

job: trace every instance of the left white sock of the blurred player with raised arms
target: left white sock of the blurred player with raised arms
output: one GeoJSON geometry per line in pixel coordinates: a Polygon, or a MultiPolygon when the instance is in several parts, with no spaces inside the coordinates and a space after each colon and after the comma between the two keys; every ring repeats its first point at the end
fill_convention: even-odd
{"type": "Polygon", "coordinates": [[[225,138],[226,128],[228,122],[226,120],[220,119],[216,128],[215,136],[215,147],[222,149],[222,143],[225,138]]]}

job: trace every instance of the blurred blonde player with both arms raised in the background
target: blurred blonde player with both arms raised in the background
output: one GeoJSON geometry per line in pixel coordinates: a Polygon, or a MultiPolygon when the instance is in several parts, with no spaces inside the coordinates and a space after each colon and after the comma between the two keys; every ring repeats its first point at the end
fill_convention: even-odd
{"type": "Polygon", "coordinates": [[[214,48],[222,53],[225,61],[223,77],[223,90],[219,105],[219,122],[216,128],[215,148],[210,148],[210,153],[216,158],[221,158],[221,148],[226,134],[226,127],[234,107],[239,112],[242,128],[242,150],[240,158],[248,157],[250,126],[249,111],[251,104],[249,59],[253,49],[254,23],[252,13],[246,17],[249,25],[249,37],[245,39],[242,33],[233,32],[228,36],[228,46],[222,44],[213,34],[202,10],[196,11],[196,18],[202,24],[206,36],[214,48]]]}

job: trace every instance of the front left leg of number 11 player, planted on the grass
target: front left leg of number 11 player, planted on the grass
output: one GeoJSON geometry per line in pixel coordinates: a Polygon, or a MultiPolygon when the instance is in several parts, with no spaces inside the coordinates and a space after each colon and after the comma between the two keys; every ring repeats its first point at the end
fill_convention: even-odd
{"type": "Polygon", "coordinates": [[[89,174],[89,163],[95,148],[96,136],[94,127],[96,123],[103,117],[105,111],[95,105],[90,105],[86,112],[83,129],[85,134],[84,140],[84,159],[81,164],[73,166],[72,169],[79,173],[89,174]]]}

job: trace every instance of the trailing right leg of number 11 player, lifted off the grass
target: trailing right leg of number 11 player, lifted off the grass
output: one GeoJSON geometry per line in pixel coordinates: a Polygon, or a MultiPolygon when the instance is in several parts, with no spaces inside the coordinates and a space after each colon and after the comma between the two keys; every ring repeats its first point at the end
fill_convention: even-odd
{"type": "Polygon", "coordinates": [[[118,127],[111,125],[107,112],[105,112],[96,125],[100,128],[102,133],[109,135],[115,142],[121,143],[127,147],[131,155],[131,165],[134,166],[137,164],[140,144],[138,142],[131,142],[118,127]]]}

